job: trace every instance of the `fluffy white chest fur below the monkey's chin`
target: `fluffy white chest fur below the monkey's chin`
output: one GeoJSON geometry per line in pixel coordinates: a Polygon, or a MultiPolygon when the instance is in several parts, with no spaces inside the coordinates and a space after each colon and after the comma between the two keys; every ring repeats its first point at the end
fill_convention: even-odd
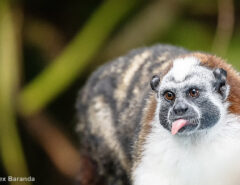
{"type": "Polygon", "coordinates": [[[229,115],[195,138],[172,136],[154,122],[133,184],[239,185],[239,118],[229,115]]]}

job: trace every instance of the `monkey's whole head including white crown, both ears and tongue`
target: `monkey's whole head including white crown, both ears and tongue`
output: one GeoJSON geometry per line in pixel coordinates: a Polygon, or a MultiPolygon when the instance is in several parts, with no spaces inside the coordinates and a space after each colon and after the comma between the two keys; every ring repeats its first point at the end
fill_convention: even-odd
{"type": "Polygon", "coordinates": [[[225,70],[208,69],[191,57],[174,61],[161,82],[153,76],[160,124],[173,135],[208,131],[227,111],[226,75],[225,70]]]}

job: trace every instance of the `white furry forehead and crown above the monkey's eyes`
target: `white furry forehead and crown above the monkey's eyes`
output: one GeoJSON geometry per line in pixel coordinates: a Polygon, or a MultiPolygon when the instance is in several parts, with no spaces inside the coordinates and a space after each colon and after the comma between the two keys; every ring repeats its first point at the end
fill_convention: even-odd
{"type": "Polygon", "coordinates": [[[200,65],[196,57],[177,58],[173,67],[163,77],[162,85],[174,84],[206,84],[214,80],[212,70],[200,65]]]}

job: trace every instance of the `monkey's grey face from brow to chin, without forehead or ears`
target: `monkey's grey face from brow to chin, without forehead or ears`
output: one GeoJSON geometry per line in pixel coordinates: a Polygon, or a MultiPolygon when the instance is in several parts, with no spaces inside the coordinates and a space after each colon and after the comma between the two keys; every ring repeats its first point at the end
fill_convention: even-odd
{"type": "Polygon", "coordinates": [[[215,100],[209,98],[204,85],[166,88],[160,91],[159,100],[159,121],[172,134],[190,134],[210,128],[220,119],[220,110],[215,100]],[[174,98],[169,100],[169,96],[174,98]]]}

